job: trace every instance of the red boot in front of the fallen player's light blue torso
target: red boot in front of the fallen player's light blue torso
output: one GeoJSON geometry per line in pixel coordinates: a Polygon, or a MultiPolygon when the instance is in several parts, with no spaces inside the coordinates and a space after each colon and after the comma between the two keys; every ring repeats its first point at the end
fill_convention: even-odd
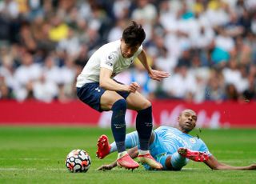
{"type": "Polygon", "coordinates": [[[178,153],[182,155],[182,157],[189,158],[194,162],[205,162],[209,159],[208,154],[200,151],[189,150],[187,148],[180,147],[178,149],[178,153]]]}

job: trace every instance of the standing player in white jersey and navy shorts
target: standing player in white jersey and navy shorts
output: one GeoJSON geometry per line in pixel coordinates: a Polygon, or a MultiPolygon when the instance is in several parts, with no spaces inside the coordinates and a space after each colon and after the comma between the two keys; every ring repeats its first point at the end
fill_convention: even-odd
{"type": "Polygon", "coordinates": [[[152,132],[152,108],[151,103],[138,93],[138,83],[132,82],[124,85],[115,81],[116,74],[126,70],[137,58],[146,68],[150,78],[161,81],[170,74],[164,71],[152,70],[146,60],[146,51],[142,48],[142,42],[146,38],[142,26],[136,22],[126,27],[122,38],[115,42],[107,43],[100,47],[90,57],[82,73],[77,78],[78,98],[102,112],[112,110],[111,130],[118,151],[118,166],[126,169],[138,168],[138,162],[130,158],[126,152],[126,109],[136,110],[136,130],[140,150],[138,150],[139,162],[146,163],[154,169],[162,169],[162,165],[156,162],[150,155],[149,141],[152,132]]]}

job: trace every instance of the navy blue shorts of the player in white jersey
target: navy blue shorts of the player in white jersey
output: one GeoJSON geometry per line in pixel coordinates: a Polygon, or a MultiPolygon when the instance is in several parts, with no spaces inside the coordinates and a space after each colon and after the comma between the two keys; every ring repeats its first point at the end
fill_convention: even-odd
{"type": "MultiPolygon", "coordinates": [[[[121,82],[118,82],[122,84],[121,82]]],[[[102,112],[104,110],[101,109],[101,97],[106,90],[99,86],[98,82],[90,82],[86,83],[82,87],[77,87],[77,95],[78,98],[86,103],[88,106],[93,108],[94,110],[98,110],[102,112]]],[[[130,94],[127,91],[117,91],[118,94],[122,96],[122,98],[127,98],[130,94]]]]}

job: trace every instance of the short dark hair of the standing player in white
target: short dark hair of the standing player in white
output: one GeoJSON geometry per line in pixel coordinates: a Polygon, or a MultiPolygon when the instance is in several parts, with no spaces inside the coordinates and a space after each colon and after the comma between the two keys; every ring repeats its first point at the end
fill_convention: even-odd
{"type": "Polygon", "coordinates": [[[142,45],[142,42],[146,38],[146,33],[142,28],[142,25],[132,22],[131,26],[126,27],[122,32],[122,39],[129,46],[142,45]]]}

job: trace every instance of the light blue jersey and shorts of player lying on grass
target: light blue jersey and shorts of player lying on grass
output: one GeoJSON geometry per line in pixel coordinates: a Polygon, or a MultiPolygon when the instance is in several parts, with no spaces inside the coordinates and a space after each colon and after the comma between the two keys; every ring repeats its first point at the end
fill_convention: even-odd
{"type": "MultiPolygon", "coordinates": [[[[160,126],[154,130],[154,142],[150,144],[150,154],[162,164],[164,170],[168,170],[166,168],[166,158],[169,156],[174,170],[181,170],[189,162],[189,159],[183,158],[178,154],[178,148],[180,147],[202,151],[209,156],[211,155],[201,138],[195,138],[169,126],[160,126]]],[[[147,165],[144,165],[144,167],[146,170],[150,169],[147,165]]]]}

